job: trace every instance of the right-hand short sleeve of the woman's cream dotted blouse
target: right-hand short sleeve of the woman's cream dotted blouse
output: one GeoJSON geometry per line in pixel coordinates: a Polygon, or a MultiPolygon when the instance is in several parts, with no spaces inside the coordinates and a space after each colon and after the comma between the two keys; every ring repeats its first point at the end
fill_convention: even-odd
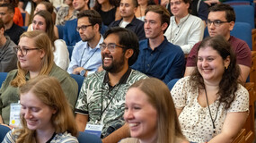
{"type": "Polygon", "coordinates": [[[249,93],[246,88],[239,85],[239,88],[235,92],[234,101],[227,110],[228,113],[234,112],[246,112],[249,110],[249,93]]]}

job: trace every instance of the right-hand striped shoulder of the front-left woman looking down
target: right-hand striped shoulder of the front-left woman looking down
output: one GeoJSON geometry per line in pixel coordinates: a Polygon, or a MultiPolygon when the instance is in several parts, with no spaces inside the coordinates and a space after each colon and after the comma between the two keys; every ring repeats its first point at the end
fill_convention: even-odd
{"type": "Polygon", "coordinates": [[[67,131],[64,133],[57,133],[52,141],[61,143],[78,143],[78,140],[67,131]]]}

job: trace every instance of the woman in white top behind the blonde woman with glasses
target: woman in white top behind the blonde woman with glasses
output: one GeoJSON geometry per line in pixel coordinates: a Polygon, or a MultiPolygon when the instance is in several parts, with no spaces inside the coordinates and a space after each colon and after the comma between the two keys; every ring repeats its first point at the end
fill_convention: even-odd
{"type": "Polygon", "coordinates": [[[69,53],[65,41],[55,37],[54,24],[50,13],[48,11],[40,11],[36,13],[31,26],[34,30],[42,30],[47,33],[53,46],[53,61],[57,64],[57,66],[66,71],[70,62],[69,53]]]}

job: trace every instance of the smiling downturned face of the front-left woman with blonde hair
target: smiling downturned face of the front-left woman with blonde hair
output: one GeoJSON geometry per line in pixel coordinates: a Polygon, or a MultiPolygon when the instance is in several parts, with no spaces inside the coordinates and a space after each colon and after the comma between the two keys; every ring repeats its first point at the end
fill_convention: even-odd
{"type": "Polygon", "coordinates": [[[56,110],[45,105],[31,91],[21,94],[21,115],[30,130],[52,129],[51,117],[56,110]]]}

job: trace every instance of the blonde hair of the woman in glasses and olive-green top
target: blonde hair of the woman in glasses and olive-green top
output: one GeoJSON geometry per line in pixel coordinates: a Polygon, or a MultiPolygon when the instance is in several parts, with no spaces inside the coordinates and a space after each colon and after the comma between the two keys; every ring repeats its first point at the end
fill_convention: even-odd
{"type": "MultiPolygon", "coordinates": [[[[21,38],[31,38],[34,41],[34,46],[45,52],[44,57],[41,59],[41,69],[39,75],[48,75],[54,65],[54,55],[52,51],[51,41],[47,34],[39,30],[28,31],[24,32],[20,39],[21,38]]],[[[17,66],[17,76],[11,81],[11,85],[13,87],[20,87],[25,84],[25,76],[28,73],[27,70],[22,69],[21,63],[19,61],[17,63],[17,66]]]]}

